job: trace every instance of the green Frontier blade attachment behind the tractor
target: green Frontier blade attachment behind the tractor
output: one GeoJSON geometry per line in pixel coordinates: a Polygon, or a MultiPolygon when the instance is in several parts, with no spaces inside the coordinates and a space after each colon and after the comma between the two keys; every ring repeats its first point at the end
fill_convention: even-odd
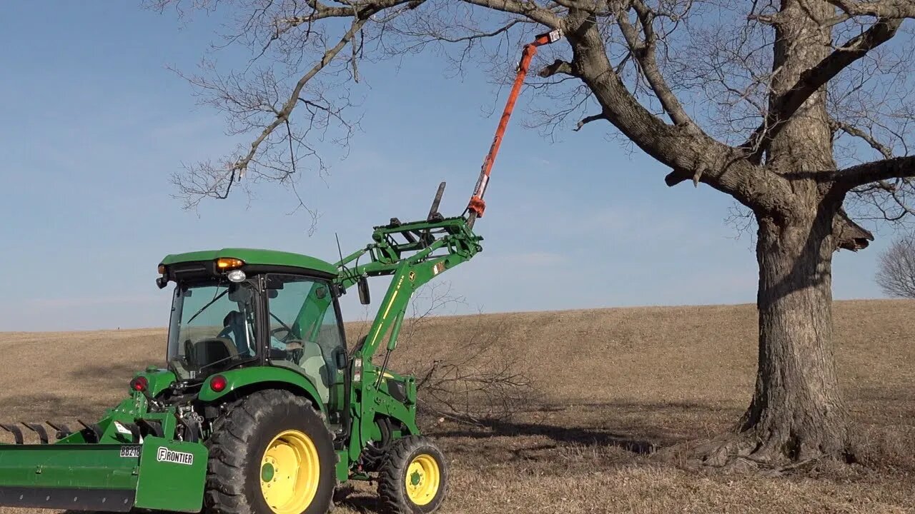
{"type": "MultiPolygon", "coordinates": [[[[30,423],[31,424],[31,423],[30,423]]],[[[40,426],[40,425],[38,425],[40,426]]],[[[49,424],[58,433],[65,426],[49,424]]],[[[5,430],[22,439],[14,425],[5,430]]],[[[42,434],[38,429],[28,426],[42,434]]],[[[44,427],[41,427],[44,429],[44,427]]],[[[91,436],[91,429],[74,435],[91,436]]],[[[48,435],[45,432],[46,436],[48,435]]],[[[208,450],[154,435],[142,444],[0,444],[0,507],[199,512],[208,450]]]]}

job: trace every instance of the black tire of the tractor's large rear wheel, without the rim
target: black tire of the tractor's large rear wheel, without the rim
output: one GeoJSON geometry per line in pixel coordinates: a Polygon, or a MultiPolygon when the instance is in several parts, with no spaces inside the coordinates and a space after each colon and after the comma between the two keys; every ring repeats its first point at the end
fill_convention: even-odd
{"type": "MultiPolygon", "coordinates": [[[[318,487],[304,514],[325,514],[337,486],[337,454],[323,415],[289,391],[253,392],[213,425],[204,509],[220,514],[274,514],[261,489],[267,446],[285,431],[307,435],[318,455],[318,487]]],[[[271,467],[271,469],[273,469],[271,467]]]]}

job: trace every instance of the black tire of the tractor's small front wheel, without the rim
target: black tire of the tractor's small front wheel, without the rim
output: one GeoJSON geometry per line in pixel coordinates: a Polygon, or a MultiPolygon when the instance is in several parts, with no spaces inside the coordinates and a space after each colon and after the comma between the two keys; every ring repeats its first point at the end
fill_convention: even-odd
{"type": "MultiPolygon", "coordinates": [[[[425,480],[425,477],[423,478],[425,480]]],[[[384,455],[381,476],[378,482],[378,496],[383,508],[392,514],[420,514],[435,512],[441,507],[448,493],[448,466],[445,455],[435,443],[421,435],[408,435],[391,444],[384,455]],[[434,496],[417,504],[407,492],[412,477],[407,474],[410,465],[421,455],[431,457],[438,470],[438,486],[434,496]]]]}

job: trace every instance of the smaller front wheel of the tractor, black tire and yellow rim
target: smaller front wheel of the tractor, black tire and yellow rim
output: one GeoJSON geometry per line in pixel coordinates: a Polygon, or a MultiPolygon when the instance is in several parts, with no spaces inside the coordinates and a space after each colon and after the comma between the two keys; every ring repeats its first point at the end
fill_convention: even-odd
{"type": "Polygon", "coordinates": [[[393,514],[435,512],[445,501],[448,467],[435,443],[408,435],[391,444],[381,468],[378,496],[393,514]]]}

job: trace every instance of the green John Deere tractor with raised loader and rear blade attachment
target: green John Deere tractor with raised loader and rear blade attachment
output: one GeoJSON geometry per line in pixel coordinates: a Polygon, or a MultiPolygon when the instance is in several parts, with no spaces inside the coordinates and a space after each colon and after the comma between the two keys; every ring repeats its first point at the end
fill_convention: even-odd
{"type": "Polygon", "coordinates": [[[388,369],[417,287],[467,261],[482,238],[469,218],[393,219],[336,264],[296,253],[223,249],[168,255],[167,368],[79,430],[23,423],[43,444],[0,444],[0,505],[324,513],[347,480],[378,483],[396,513],[433,512],[447,460],[416,426],[414,377],[388,369]],[[368,333],[348,350],[339,297],[368,304],[390,276],[368,333]],[[376,356],[375,354],[379,355],[376,356]],[[56,436],[56,437],[55,437],[56,436]],[[51,441],[56,439],[56,441],[51,441]]]}

